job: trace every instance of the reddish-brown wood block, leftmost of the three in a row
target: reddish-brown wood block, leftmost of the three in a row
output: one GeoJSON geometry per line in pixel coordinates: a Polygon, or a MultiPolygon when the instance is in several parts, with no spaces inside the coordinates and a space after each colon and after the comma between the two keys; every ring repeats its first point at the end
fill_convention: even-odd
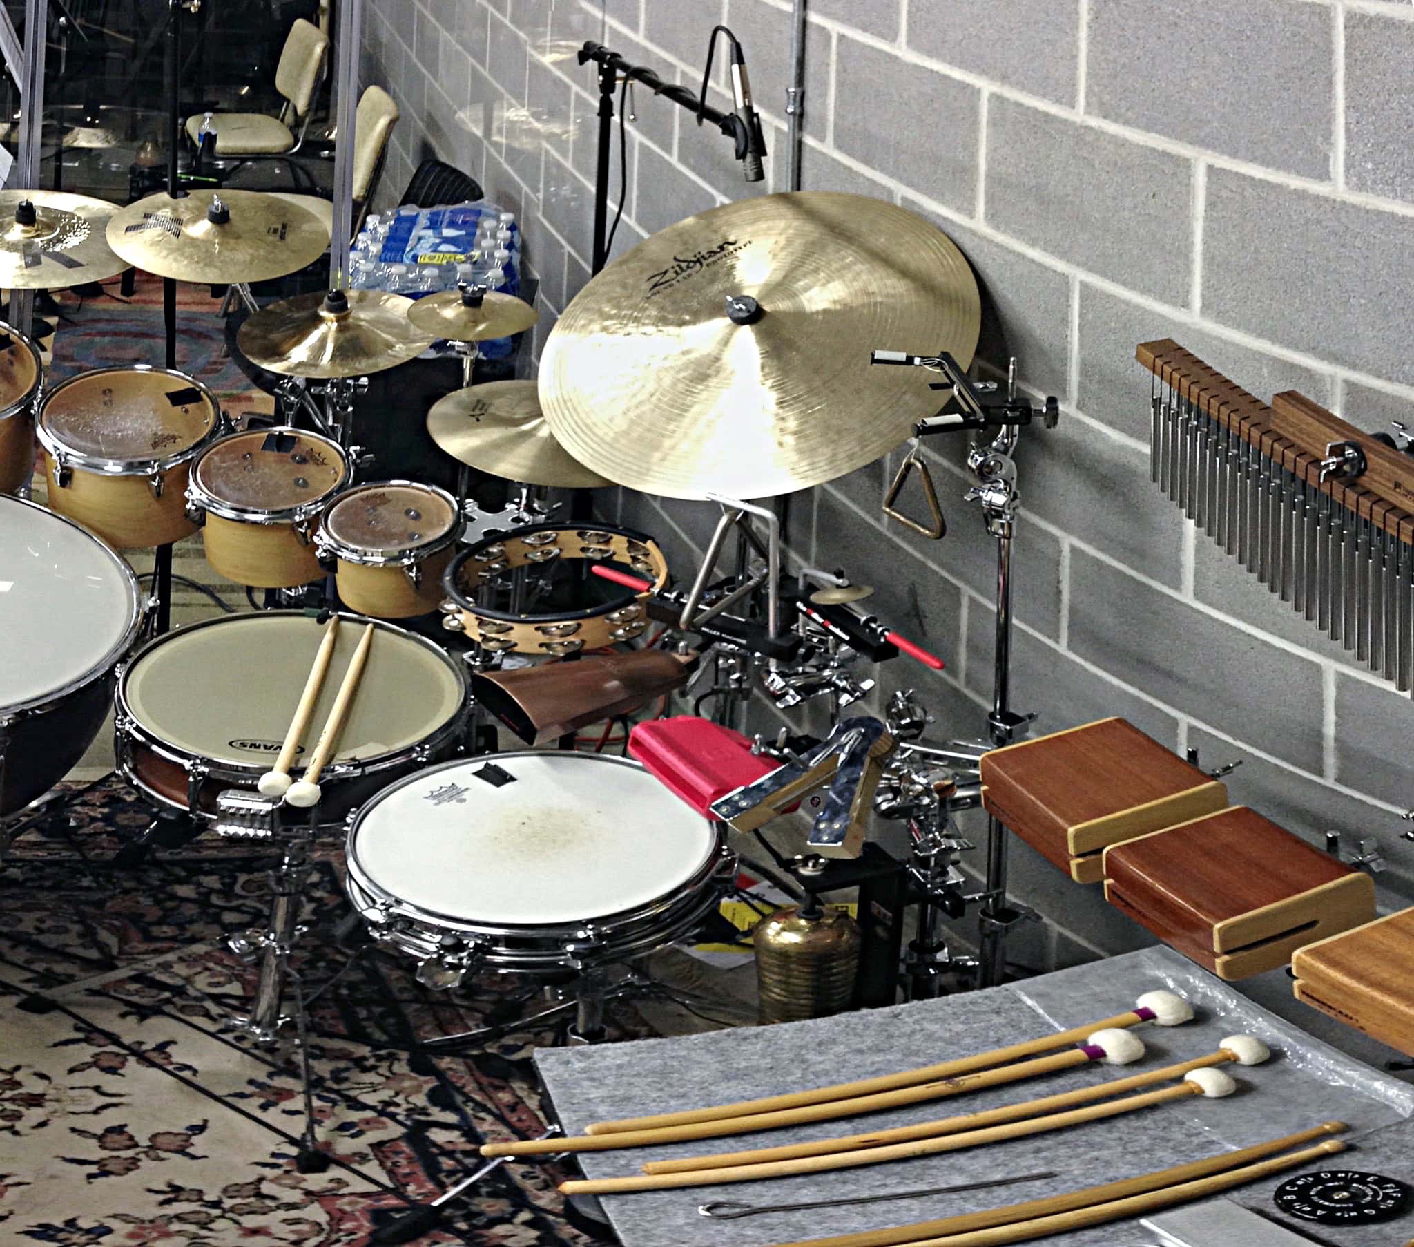
{"type": "Polygon", "coordinates": [[[1227,788],[1124,719],[1100,719],[981,756],[981,803],[1076,883],[1100,851],[1212,814],[1227,788]]]}

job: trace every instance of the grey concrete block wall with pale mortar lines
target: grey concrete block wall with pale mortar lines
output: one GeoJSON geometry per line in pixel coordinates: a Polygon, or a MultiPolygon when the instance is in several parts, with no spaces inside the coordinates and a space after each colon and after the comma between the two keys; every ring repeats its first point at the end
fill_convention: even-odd
{"type": "MultiPolygon", "coordinates": [[[[710,24],[741,33],[772,151],[747,187],[710,130],[635,93],[615,252],[701,208],[783,188],[788,0],[372,0],[366,81],[404,105],[383,202],[428,154],[515,205],[542,280],[536,352],[588,279],[594,38],[691,86],[710,24]]],[[[1015,699],[1039,730],[1123,713],[1205,760],[1249,759],[1236,800],[1298,834],[1377,834],[1414,876],[1414,708],[1198,539],[1147,481],[1134,344],[1172,335],[1261,395],[1297,386],[1365,427],[1414,418],[1414,4],[1374,0],[812,0],[807,188],[901,202],[962,246],[986,297],[983,358],[1063,405],[1027,435],[1015,699]]],[[[720,100],[718,100],[720,102],[720,100]]],[[[614,194],[618,194],[615,150],[614,194]]],[[[977,735],[990,694],[990,542],[960,502],[960,446],[930,457],[952,532],[878,512],[898,453],[792,505],[802,555],[889,586],[946,650],[904,660],[939,732],[977,735]]],[[[677,572],[704,518],[619,491],[677,572]]],[[[700,510],[700,508],[699,508],[700,510]]],[[[1017,887],[1073,960],[1143,940],[1031,854],[1017,887]],[[1068,899],[1069,897],[1069,899],[1068,899]]]]}

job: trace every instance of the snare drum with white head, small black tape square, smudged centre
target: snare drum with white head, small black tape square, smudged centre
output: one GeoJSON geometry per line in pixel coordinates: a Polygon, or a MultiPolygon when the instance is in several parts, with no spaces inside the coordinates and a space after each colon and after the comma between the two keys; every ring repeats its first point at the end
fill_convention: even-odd
{"type": "Polygon", "coordinates": [[[348,893],[372,934],[451,987],[477,965],[641,957],[715,909],[735,856],[636,762],[523,752],[445,763],[351,820],[348,893]]]}

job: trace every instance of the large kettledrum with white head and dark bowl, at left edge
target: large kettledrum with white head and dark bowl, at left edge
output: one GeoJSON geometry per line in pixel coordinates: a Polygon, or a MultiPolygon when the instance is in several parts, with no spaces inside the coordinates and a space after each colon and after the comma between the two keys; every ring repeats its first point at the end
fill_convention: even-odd
{"type": "Polygon", "coordinates": [[[137,580],[71,519],[0,497],[0,815],[78,763],[137,637],[137,580]]]}

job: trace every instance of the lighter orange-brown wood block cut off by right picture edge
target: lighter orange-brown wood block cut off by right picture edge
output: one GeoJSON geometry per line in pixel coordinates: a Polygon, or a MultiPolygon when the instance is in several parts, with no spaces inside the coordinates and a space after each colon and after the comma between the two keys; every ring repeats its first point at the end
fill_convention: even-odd
{"type": "Polygon", "coordinates": [[[1297,950],[1295,996],[1414,1056],[1414,909],[1297,950]]]}

